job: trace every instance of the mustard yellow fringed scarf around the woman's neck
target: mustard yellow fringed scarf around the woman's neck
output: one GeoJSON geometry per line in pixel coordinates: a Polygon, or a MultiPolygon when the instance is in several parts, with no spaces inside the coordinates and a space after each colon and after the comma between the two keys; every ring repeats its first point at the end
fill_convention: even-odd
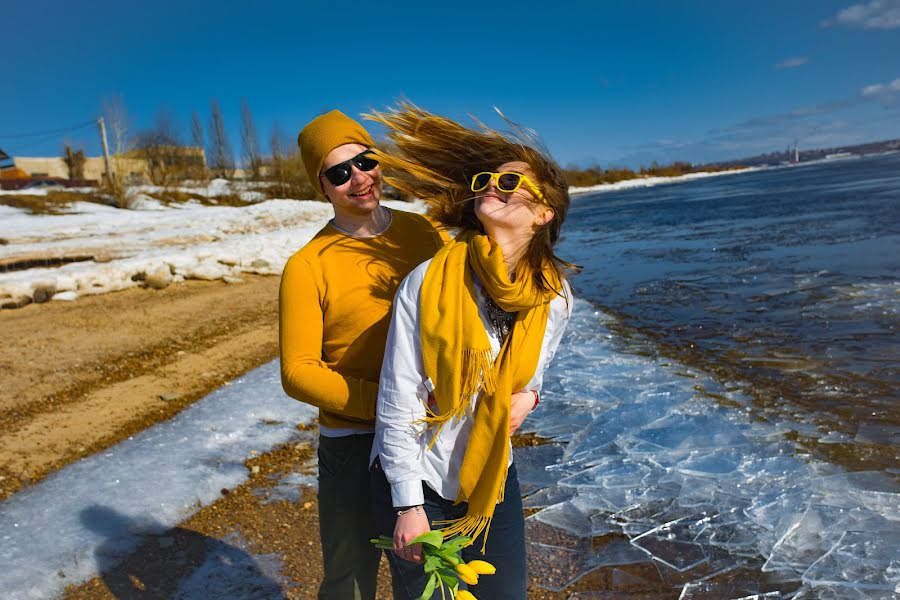
{"type": "MultiPolygon", "coordinates": [[[[559,289],[552,270],[546,269],[544,276],[559,289]]],[[[461,234],[431,260],[419,300],[419,335],[425,375],[434,385],[437,402],[437,410],[429,410],[425,418],[434,430],[432,444],[444,424],[462,417],[472,396],[482,392],[456,498],[469,503],[468,511],[461,519],[439,523],[447,525],[445,536],[468,535],[474,540],[484,531],[487,543],[494,508],[503,501],[506,483],[510,398],[537,369],[554,295],[540,293],[524,269],[511,282],[500,246],[477,232],[461,234]],[[473,271],[500,308],[516,313],[512,330],[493,361],[478,314],[473,271]]]]}

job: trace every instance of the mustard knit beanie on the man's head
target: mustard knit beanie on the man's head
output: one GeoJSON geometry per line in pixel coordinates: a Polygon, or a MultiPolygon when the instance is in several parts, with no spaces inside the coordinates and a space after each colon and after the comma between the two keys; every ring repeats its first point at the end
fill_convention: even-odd
{"type": "Polygon", "coordinates": [[[325,191],[319,178],[322,164],[329,152],[344,144],[362,144],[369,148],[375,145],[362,125],[339,110],[316,117],[301,129],[297,136],[297,145],[300,146],[300,156],[303,158],[303,166],[306,167],[306,175],[313,187],[323,196],[325,191]]]}

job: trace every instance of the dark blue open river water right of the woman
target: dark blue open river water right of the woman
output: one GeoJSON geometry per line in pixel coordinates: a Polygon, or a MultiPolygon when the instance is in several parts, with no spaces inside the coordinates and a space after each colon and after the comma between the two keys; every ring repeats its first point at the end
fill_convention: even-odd
{"type": "Polygon", "coordinates": [[[579,196],[559,254],[623,331],[812,440],[900,444],[900,154],[579,196]]]}

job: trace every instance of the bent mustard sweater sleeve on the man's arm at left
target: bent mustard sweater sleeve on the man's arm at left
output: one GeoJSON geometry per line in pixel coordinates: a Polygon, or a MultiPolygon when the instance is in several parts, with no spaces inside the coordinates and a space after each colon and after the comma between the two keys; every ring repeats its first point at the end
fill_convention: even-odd
{"type": "Polygon", "coordinates": [[[322,360],[324,315],[309,263],[288,261],[279,292],[281,385],[297,400],[356,419],[375,418],[378,384],[347,377],[322,360]]]}

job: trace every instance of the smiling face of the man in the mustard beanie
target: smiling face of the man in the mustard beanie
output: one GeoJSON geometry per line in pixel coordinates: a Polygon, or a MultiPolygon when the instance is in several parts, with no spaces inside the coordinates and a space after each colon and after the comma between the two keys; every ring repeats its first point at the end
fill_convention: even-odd
{"type": "MultiPolygon", "coordinates": [[[[338,163],[358,155],[366,150],[362,144],[344,144],[328,153],[322,164],[322,172],[338,163]]],[[[325,196],[334,206],[336,215],[351,217],[368,216],[378,208],[381,199],[381,167],[375,167],[371,171],[360,171],[356,165],[352,167],[350,180],[341,185],[333,185],[327,177],[319,174],[322,189],[325,196]]]]}

